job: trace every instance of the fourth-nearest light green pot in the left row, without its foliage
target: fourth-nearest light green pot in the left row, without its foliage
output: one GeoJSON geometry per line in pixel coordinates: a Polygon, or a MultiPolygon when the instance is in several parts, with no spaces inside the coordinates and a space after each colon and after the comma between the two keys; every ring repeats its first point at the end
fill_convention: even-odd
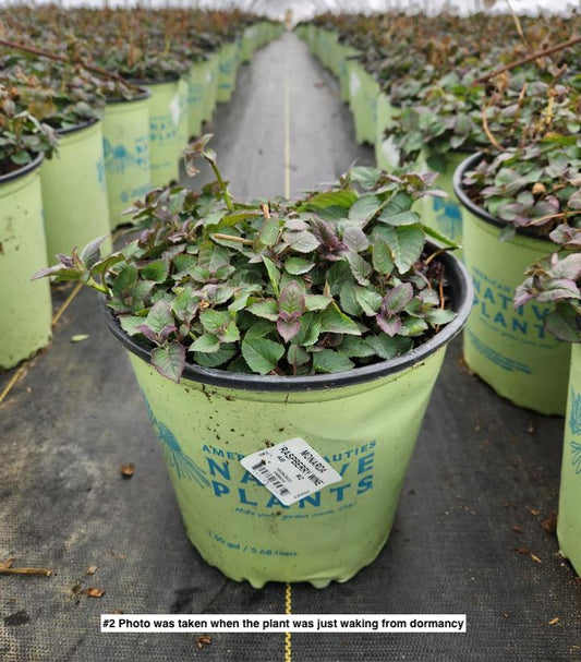
{"type": "Polygon", "coordinates": [[[152,185],[165,186],[171,181],[178,181],[180,177],[179,154],[184,146],[180,136],[183,106],[183,93],[180,98],[180,76],[174,75],[167,81],[134,83],[146,85],[152,92],[148,103],[152,185]]]}

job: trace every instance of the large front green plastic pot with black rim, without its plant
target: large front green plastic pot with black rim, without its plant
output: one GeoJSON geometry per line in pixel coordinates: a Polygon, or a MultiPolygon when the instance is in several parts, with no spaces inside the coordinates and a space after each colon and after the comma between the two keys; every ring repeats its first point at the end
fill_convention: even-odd
{"type": "Polygon", "coordinates": [[[259,588],[325,587],[374,561],[389,535],[445,347],[471,306],[462,265],[450,255],[443,262],[457,318],[402,357],[341,374],[279,377],[189,365],[175,384],[107,312],[130,351],[187,535],[207,563],[259,588]],[[295,437],[342,479],[285,507],[240,460],[295,437]]]}

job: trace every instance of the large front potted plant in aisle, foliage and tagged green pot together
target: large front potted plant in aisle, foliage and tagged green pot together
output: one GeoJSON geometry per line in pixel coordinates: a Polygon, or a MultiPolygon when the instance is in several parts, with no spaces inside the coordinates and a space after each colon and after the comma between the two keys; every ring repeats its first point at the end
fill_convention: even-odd
{"type": "Polygon", "coordinates": [[[255,587],[346,581],[389,534],[471,286],[410,210],[428,193],[420,176],[354,168],[299,201],[242,204],[206,142],[189,157],[203,154],[215,182],[153,191],[121,251],[101,258],[96,241],[38,277],[105,294],[187,534],[208,563],[255,587]],[[302,460],[278,446],[296,438],[307,444],[302,460]],[[268,459],[254,473],[241,464],[271,447],[338,482],[315,492],[299,483],[302,497],[285,506],[268,459]]]}

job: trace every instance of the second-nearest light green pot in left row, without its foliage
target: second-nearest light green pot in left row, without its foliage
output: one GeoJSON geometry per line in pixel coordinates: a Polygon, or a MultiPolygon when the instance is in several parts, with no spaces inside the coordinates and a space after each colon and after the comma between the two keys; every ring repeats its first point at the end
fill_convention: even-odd
{"type": "MultiPolygon", "coordinates": [[[[58,136],[58,154],[40,167],[49,264],[110,232],[101,122],[64,129],[58,136]]],[[[104,250],[111,250],[110,239],[104,250]]]]}

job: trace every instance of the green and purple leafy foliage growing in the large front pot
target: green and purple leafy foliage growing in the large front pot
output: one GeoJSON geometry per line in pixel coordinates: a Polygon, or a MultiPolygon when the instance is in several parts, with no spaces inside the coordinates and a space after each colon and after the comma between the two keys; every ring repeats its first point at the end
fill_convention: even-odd
{"type": "MultiPolygon", "coordinates": [[[[153,365],[179,381],[186,361],[237,373],[337,373],[423,344],[449,310],[441,249],[412,210],[432,174],[355,167],[296,201],[234,201],[205,136],[216,181],[152,191],[128,243],[100,241],[37,277],[81,281],[106,297],[153,365]]],[[[192,160],[190,171],[195,172],[192,160]]],[[[449,242],[448,242],[449,243],[449,242]]]]}

